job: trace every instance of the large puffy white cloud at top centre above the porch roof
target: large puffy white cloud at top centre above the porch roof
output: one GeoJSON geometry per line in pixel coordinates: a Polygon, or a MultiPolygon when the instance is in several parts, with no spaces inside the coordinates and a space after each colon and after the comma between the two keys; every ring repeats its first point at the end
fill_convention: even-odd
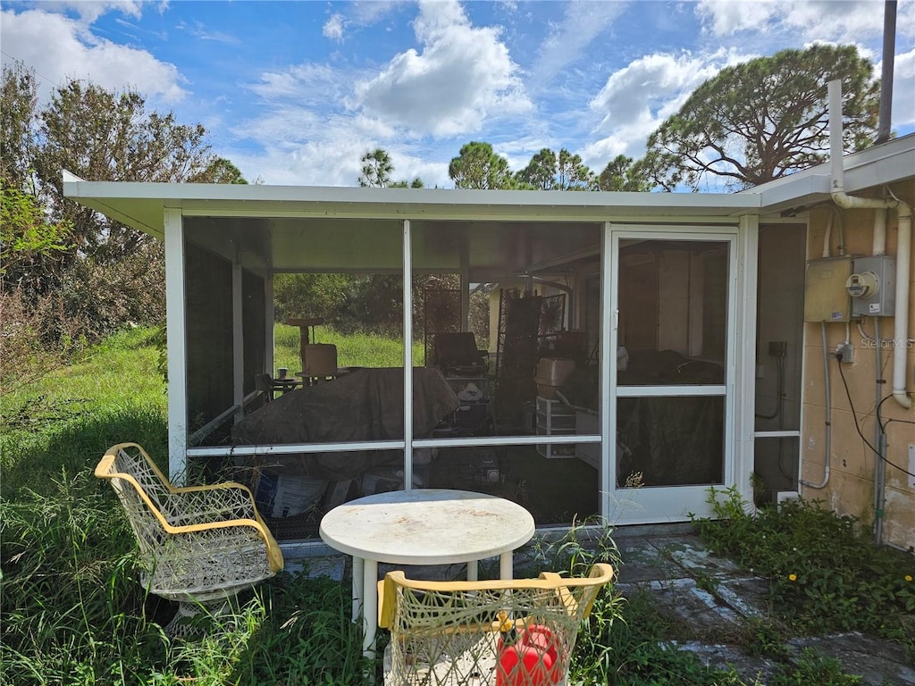
{"type": "Polygon", "coordinates": [[[414,32],[422,52],[410,48],[357,84],[363,112],[407,134],[447,136],[531,110],[499,31],[470,26],[457,2],[421,2],[414,32]]]}

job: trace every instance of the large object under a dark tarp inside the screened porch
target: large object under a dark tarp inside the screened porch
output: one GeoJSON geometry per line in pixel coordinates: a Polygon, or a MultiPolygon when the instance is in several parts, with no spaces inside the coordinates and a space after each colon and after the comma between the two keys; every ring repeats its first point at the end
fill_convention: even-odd
{"type": "MultiPolygon", "coordinates": [[[[447,414],[460,406],[458,396],[442,372],[413,370],[413,435],[432,434],[447,414]]],[[[232,429],[234,445],[288,443],[347,443],[393,441],[404,438],[404,370],[352,370],[285,393],[249,414],[232,429]]],[[[291,472],[328,479],[352,478],[365,469],[387,464],[401,454],[358,451],[307,456],[271,456],[271,464],[291,472]]]]}

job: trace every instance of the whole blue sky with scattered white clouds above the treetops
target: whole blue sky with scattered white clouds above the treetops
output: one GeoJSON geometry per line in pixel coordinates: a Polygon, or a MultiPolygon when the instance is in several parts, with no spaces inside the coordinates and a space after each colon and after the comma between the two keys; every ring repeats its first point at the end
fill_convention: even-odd
{"type": "MultiPolygon", "coordinates": [[[[355,186],[382,147],[394,179],[452,188],[487,141],[525,166],[543,147],[599,172],[703,80],[746,59],[850,42],[879,75],[882,0],[662,2],[6,2],[4,64],[41,97],[71,78],[135,88],[203,123],[249,180],[355,186]]],[[[915,130],[915,0],[900,0],[893,128],[915,130]]]]}

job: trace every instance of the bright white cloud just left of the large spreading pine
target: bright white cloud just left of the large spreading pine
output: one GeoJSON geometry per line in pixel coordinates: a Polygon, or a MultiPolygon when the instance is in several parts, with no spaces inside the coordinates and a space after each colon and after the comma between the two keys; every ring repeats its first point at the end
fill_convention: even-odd
{"type": "Polygon", "coordinates": [[[733,50],[712,54],[655,53],[636,59],[615,71],[589,103],[601,116],[595,133],[603,137],[588,145],[588,164],[616,155],[640,156],[645,140],[664,119],[675,113],[705,80],[730,64],[750,59],[733,50]]]}

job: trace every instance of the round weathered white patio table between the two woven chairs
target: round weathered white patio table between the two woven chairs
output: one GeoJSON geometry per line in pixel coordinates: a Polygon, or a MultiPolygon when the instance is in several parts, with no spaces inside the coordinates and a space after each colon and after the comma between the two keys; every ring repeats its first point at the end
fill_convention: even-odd
{"type": "Polygon", "coordinates": [[[378,625],[378,563],[468,563],[500,555],[499,573],[511,579],[512,552],[531,540],[534,523],[521,505],[483,493],[414,488],[350,500],[321,520],[321,539],[352,555],[353,619],[362,616],[362,650],[374,656],[378,625]]]}

